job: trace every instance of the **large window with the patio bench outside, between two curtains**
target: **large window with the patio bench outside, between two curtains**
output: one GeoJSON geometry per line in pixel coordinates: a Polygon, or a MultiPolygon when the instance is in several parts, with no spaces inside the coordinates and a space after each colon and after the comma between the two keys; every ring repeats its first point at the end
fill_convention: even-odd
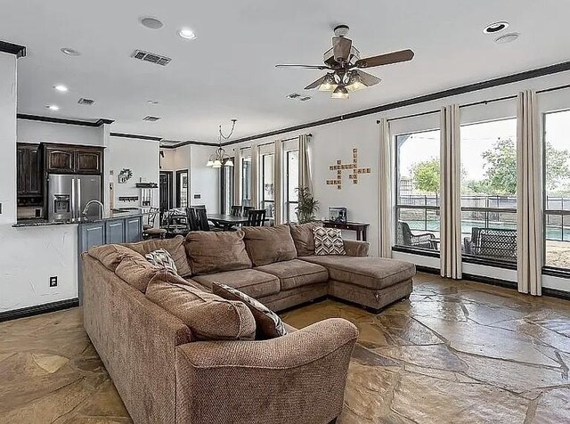
{"type": "Polygon", "coordinates": [[[466,262],[517,263],[517,119],[461,126],[461,240],[466,262]]]}

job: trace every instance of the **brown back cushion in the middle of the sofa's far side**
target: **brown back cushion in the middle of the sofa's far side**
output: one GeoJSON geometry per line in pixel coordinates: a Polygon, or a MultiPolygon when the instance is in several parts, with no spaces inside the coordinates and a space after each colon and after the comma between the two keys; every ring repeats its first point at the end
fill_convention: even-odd
{"type": "Polygon", "coordinates": [[[246,248],[255,266],[289,261],[297,257],[289,225],[273,227],[243,227],[246,248]]]}

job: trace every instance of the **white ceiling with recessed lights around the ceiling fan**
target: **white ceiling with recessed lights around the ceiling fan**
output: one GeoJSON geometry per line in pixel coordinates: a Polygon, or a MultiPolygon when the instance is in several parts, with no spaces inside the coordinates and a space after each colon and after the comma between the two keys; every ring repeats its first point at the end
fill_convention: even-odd
{"type": "Polygon", "coordinates": [[[234,137],[329,118],[420,94],[570,60],[566,0],[18,0],[4,1],[0,40],[26,45],[18,61],[18,111],[58,118],[111,118],[112,131],[175,140],[217,140],[238,118],[234,137]],[[154,16],[164,28],[143,28],[154,16]],[[497,45],[482,29],[508,20],[521,33],[497,45]],[[320,64],[335,24],[350,25],[362,56],[411,48],[408,63],[371,69],[379,86],[347,101],[307,92],[286,95],[321,71],[274,69],[276,63],[320,64]],[[177,36],[181,27],[194,41],[177,36]],[[61,47],[82,53],[69,57],[61,47]],[[136,61],[134,49],[169,56],[167,67],[136,61]],[[59,94],[53,85],[69,86],[59,94]],[[77,104],[92,98],[94,106],[77,104]],[[151,106],[148,100],[159,101],[151,106]],[[45,105],[55,103],[52,112],[45,105]],[[146,115],[162,117],[147,123],[146,115]]]}

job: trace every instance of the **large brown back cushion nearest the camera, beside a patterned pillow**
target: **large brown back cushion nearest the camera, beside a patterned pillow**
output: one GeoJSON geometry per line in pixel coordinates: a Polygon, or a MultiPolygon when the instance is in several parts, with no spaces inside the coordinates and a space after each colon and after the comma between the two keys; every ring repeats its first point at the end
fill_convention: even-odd
{"type": "Polygon", "coordinates": [[[198,340],[251,340],[256,336],[248,306],[197,289],[179,275],[161,271],[149,282],[146,297],[184,322],[198,340]]]}

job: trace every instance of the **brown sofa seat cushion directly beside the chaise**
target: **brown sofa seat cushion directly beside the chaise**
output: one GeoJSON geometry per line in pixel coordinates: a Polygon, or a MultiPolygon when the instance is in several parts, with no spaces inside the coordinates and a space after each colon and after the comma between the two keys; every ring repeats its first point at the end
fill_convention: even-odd
{"type": "Polygon", "coordinates": [[[281,290],[295,289],[296,287],[329,280],[329,273],[324,266],[299,259],[258,266],[255,269],[264,273],[271,273],[279,278],[281,290]]]}

